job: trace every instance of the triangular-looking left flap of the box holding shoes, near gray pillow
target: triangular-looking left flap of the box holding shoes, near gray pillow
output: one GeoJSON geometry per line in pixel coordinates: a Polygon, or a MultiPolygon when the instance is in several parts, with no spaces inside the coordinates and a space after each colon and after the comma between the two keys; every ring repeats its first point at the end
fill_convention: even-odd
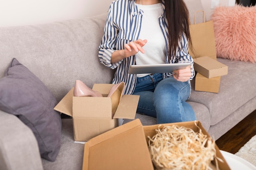
{"type": "Polygon", "coordinates": [[[54,107],[54,110],[64,113],[69,116],[72,115],[72,100],[74,95],[74,88],[72,88],[64,97],[61,99],[61,101],[54,107]]]}

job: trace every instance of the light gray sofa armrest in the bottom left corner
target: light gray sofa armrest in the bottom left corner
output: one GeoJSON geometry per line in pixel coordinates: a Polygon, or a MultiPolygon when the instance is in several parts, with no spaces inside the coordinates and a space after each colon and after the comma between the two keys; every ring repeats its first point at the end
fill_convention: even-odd
{"type": "Polygon", "coordinates": [[[0,169],[43,170],[36,138],[16,116],[0,110],[0,169]]]}

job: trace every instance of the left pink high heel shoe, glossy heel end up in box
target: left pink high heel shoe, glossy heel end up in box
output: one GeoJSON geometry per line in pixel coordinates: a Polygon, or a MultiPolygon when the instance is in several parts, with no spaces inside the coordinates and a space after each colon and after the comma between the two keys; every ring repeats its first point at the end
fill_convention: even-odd
{"type": "Polygon", "coordinates": [[[92,97],[102,97],[102,94],[98,91],[93,91],[91,88],[86,86],[81,80],[76,80],[74,87],[74,96],[92,96],[92,97]]]}

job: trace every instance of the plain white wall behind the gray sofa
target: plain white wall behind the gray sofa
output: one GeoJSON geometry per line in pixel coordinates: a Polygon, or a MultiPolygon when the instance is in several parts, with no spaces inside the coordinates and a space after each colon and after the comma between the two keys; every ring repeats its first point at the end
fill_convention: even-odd
{"type": "MultiPolygon", "coordinates": [[[[108,11],[113,0],[0,0],[0,27],[43,24],[108,11]]],[[[213,9],[211,0],[201,0],[208,19],[213,9]]],[[[219,0],[227,6],[235,0],[219,0]]]]}

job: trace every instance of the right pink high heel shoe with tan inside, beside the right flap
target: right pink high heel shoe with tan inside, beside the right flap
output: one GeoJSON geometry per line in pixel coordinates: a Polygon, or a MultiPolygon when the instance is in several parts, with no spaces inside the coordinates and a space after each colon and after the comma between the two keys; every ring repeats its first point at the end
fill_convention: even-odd
{"type": "Polygon", "coordinates": [[[125,86],[124,82],[115,84],[110,88],[110,91],[108,93],[108,97],[111,97],[111,103],[112,103],[112,117],[115,115],[117,106],[118,106],[118,104],[121,100],[121,97],[123,95],[124,86],[125,86]]]}

